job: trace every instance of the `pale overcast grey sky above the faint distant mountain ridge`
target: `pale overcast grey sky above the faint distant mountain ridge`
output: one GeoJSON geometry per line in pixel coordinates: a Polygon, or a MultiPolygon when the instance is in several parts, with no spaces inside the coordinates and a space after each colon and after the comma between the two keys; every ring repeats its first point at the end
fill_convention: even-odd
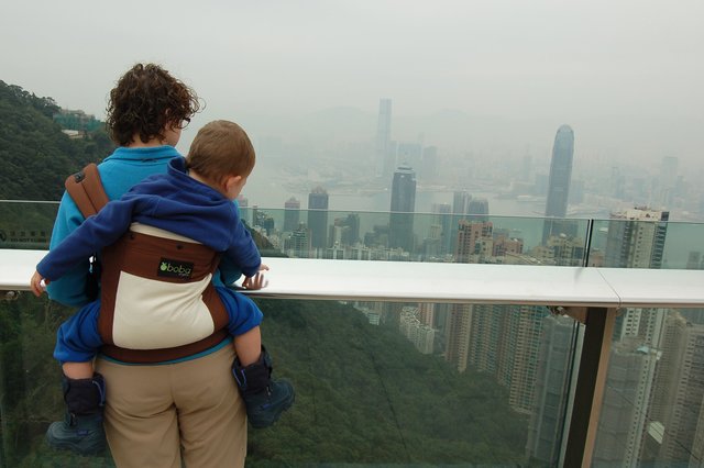
{"type": "Polygon", "coordinates": [[[0,79],[99,118],[116,79],[148,60],[206,101],[194,129],[331,107],[373,115],[384,97],[399,118],[544,122],[544,146],[569,123],[575,154],[620,147],[624,130],[657,154],[704,156],[701,0],[7,0],[1,11],[0,79]]]}

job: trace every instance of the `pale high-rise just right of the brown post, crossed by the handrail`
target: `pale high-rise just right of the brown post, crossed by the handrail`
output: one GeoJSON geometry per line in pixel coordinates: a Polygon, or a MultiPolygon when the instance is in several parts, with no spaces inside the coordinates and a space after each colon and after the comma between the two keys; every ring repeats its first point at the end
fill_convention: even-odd
{"type": "MultiPolygon", "coordinates": [[[[612,213],[604,266],[660,268],[668,218],[646,208],[612,213]]],[[[629,308],[616,319],[595,463],[638,467],[664,449],[676,335],[666,310],[629,308]]]]}

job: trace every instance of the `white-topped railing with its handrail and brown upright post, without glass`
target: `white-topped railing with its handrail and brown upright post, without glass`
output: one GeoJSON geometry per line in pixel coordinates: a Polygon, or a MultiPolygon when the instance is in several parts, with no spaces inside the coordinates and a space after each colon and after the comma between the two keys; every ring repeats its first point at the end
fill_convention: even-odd
{"type": "MultiPolygon", "coordinates": [[[[29,290],[43,250],[0,250],[0,290],[29,290]]],[[[703,270],[264,258],[276,299],[546,305],[584,323],[563,466],[591,466],[610,336],[623,308],[704,308],[703,270]]]]}

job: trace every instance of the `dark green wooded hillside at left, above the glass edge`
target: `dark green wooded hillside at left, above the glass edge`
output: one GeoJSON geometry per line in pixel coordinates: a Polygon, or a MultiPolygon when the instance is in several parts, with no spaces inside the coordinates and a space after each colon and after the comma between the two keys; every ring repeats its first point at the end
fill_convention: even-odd
{"type": "Polygon", "coordinates": [[[58,200],[64,179],[111,148],[101,129],[70,138],[54,115],[61,108],[0,80],[0,199],[58,200]]]}

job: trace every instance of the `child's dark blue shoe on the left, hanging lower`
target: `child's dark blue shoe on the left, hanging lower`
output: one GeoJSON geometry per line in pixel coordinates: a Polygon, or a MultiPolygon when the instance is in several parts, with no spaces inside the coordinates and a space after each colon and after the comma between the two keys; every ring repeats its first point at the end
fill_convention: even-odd
{"type": "Polygon", "coordinates": [[[102,428],[102,410],[106,402],[106,383],[100,374],[91,379],[62,380],[66,415],[64,421],[52,423],[46,431],[46,442],[54,448],[68,449],[79,455],[96,455],[106,448],[102,428]]]}

